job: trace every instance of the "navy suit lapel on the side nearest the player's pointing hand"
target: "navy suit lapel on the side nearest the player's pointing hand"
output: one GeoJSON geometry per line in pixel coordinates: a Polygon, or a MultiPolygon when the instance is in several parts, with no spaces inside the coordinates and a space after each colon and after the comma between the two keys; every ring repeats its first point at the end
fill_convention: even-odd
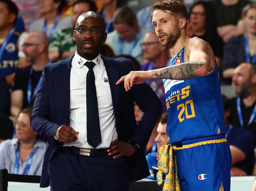
{"type": "Polygon", "coordinates": [[[110,90],[111,90],[111,97],[113,102],[114,114],[116,119],[116,126],[117,126],[117,119],[118,119],[118,103],[119,103],[119,85],[115,83],[119,80],[119,73],[118,68],[115,62],[112,62],[112,59],[101,55],[102,60],[104,62],[106,72],[108,75],[110,90]]]}

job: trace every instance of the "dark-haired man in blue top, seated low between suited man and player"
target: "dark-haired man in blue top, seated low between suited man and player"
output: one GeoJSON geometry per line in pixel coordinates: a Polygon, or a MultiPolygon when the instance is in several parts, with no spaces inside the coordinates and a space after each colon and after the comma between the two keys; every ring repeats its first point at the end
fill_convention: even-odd
{"type": "MultiPolygon", "coordinates": [[[[166,132],[167,118],[167,113],[163,114],[163,116],[160,118],[160,122],[157,127],[158,135],[156,137],[156,143],[158,149],[160,146],[170,144],[170,138],[166,132]]],[[[146,179],[156,180],[156,173],[158,172],[157,152],[148,153],[146,158],[148,162],[148,168],[150,171],[150,175],[146,179]]]]}

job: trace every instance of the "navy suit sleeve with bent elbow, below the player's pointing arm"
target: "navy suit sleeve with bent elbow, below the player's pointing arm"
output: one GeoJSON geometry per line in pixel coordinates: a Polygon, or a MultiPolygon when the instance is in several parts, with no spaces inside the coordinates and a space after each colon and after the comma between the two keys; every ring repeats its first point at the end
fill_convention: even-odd
{"type": "Polygon", "coordinates": [[[162,104],[156,93],[147,83],[133,85],[132,94],[134,102],[144,113],[134,130],[132,139],[141,148],[145,149],[152,130],[161,115],[162,104]]]}

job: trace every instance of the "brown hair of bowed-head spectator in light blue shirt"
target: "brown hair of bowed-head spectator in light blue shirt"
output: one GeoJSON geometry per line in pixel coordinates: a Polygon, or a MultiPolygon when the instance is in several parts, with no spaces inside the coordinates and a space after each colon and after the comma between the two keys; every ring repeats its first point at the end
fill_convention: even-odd
{"type": "Polygon", "coordinates": [[[118,8],[113,15],[113,24],[127,24],[129,26],[134,26],[137,18],[132,9],[129,7],[118,8]]]}

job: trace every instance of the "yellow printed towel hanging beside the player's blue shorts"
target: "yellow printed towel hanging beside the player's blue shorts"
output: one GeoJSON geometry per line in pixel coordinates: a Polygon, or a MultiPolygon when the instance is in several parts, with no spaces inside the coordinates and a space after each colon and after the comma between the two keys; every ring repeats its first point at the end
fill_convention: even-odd
{"type": "Polygon", "coordinates": [[[165,174],[163,191],[181,191],[177,172],[176,156],[173,155],[173,149],[170,145],[161,146],[159,149],[159,155],[159,171],[156,174],[158,186],[163,183],[163,174],[165,174]]]}

